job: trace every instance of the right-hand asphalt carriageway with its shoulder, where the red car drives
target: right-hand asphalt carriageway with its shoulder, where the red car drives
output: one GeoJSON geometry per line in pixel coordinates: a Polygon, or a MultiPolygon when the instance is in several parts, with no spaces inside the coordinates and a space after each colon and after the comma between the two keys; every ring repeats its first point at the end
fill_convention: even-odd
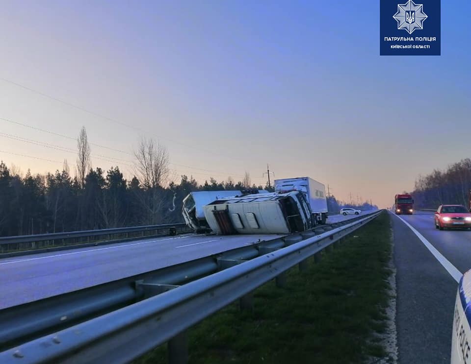
{"type": "Polygon", "coordinates": [[[431,212],[399,217],[438,251],[434,256],[410,227],[392,217],[399,363],[450,363],[456,280],[471,268],[471,231],[440,231],[431,212]],[[448,270],[440,261],[451,263],[448,270]]]}

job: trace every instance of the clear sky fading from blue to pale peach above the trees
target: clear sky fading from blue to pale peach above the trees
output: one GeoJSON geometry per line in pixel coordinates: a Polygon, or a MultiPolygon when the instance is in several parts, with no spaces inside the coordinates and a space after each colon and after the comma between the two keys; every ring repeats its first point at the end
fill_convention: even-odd
{"type": "Polygon", "coordinates": [[[469,1],[442,1],[441,56],[392,57],[378,0],[1,5],[0,159],[23,172],[73,170],[85,126],[126,178],[145,136],[177,179],[264,185],[268,163],[389,207],[471,157],[469,1]]]}

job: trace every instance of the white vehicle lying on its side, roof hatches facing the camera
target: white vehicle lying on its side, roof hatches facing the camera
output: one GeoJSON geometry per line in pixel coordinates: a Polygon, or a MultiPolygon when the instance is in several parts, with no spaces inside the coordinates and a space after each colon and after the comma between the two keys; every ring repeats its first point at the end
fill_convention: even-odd
{"type": "Polygon", "coordinates": [[[300,191],[220,198],[203,209],[216,234],[289,234],[314,227],[311,208],[300,191]]]}

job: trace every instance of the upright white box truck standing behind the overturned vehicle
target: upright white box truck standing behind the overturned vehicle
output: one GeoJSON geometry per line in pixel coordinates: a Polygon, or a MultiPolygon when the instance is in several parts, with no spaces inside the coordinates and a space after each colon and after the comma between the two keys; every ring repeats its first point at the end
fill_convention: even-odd
{"type": "Polygon", "coordinates": [[[310,177],[275,179],[275,192],[301,191],[306,195],[314,220],[325,224],[327,220],[327,199],[325,186],[310,177]]]}

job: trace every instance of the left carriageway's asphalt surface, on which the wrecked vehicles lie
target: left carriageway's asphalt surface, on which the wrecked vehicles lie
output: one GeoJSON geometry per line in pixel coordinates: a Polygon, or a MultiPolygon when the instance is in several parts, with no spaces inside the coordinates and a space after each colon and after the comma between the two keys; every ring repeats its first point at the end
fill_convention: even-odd
{"type": "MultiPolygon", "coordinates": [[[[355,218],[331,216],[330,223],[355,218]]],[[[92,287],[281,235],[181,235],[0,259],[0,309],[92,287]]]]}

